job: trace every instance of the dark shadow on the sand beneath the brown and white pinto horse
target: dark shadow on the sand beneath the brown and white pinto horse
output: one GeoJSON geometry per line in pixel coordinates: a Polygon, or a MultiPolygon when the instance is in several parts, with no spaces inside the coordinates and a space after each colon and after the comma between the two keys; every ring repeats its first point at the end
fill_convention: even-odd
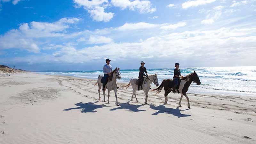
{"type": "MultiPolygon", "coordinates": [[[[180,111],[184,111],[184,110],[180,110],[179,107],[177,107],[176,109],[167,108],[164,105],[159,105],[159,106],[156,107],[154,104],[150,104],[149,107],[152,108],[152,109],[158,110],[157,112],[152,114],[152,115],[155,115],[155,116],[158,115],[158,114],[161,114],[161,113],[172,114],[173,116],[177,116],[178,118],[191,116],[191,115],[181,114],[180,111]]],[[[185,110],[188,110],[188,109],[185,109],[185,110]]]]}

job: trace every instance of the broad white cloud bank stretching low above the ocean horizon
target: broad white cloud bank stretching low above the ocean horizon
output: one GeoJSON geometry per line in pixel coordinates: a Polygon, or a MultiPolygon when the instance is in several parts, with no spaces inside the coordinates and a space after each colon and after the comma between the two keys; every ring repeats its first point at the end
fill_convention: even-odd
{"type": "Polygon", "coordinates": [[[226,65],[234,65],[236,62],[243,64],[254,59],[256,36],[249,35],[255,33],[256,28],[184,31],[152,36],[138,43],[110,43],[83,49],[67,46],[52,55],[42,56],[44,58],[24,57],[14,60],[34,63],[42,63],[42,60],[85,63],[103,60],[105,57],[115,57],[119,62],[143,57],[148,62],[161,58],[161,63],[164,63],[170,57],[174,57],[183,63],[195,63],[198,66],[214,66],[223,62],[226,65]],[[173,51],[174,49],[179,49],[179,52],[173,51]]]}

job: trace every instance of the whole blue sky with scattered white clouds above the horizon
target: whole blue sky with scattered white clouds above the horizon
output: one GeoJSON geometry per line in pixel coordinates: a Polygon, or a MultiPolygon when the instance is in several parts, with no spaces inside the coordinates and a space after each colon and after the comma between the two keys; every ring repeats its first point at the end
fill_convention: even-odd
{"type": "Polygon", "coordinates": [[[256,0],[0,0],[0,64],[256,66],[256,0]]]}

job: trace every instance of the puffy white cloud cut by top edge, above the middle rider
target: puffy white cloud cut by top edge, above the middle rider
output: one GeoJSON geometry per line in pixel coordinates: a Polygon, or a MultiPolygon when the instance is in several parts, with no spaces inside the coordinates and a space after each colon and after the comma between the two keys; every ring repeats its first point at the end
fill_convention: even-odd
{"type": "Polygon", "coordinates": [[[132,11],[139,11],[140,13],[152,13],[156,8],[152,8],[152,4],[148,0],[111,0],[111,4],[121,9],[129,8],[132,11]]]}

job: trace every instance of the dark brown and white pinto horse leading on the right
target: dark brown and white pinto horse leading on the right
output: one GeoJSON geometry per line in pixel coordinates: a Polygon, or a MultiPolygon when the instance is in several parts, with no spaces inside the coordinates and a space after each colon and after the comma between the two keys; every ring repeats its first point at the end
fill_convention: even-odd
{"type": "MultiPolygon", "coordinates": [[[[167,104],[167,101],[168,101],[167,96],[170,92],[172,92],[172,87],[168,87],[169,83],[172,81],[173,81],[172,79],[164,79],[162,84],[160,84],[160,86],[158,88],[152,90],[158,94],[162,91],[162,89],[164,87],[164,98],[165,98],[164,104],[167,104]]],[[[181,92],[180,102],[181,102],[183,95],[188,100],[188,96],[187,96],[186,92],[188,92],[188,87],[190,86],[192,81],[194,81],[197,85],[201,84],[200,79],[199,79],[198,75],[196,74],[196,71],[194,71],[191,74],[188,74],[187,76],[185,76],[181,79],[180,87],[178,88],[179,92],[181,92]]],[[[180,102],[179,102],[179,106],[181,107],[180,102]]],[[[189,100],[188,100],[188,108],[190,108],[189,100]]]]}

